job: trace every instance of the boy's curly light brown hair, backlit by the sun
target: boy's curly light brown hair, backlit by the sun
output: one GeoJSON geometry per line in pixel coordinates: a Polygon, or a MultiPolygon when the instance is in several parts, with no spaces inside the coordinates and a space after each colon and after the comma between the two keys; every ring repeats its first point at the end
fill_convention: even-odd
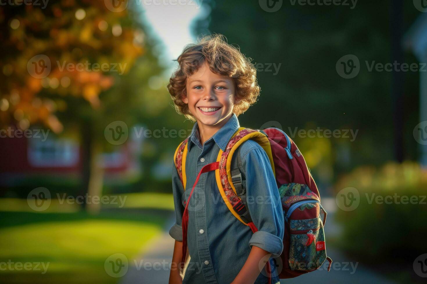
{"type": "Polygon", "coordinates": [[[213,73],[234,79],[235,95],[240,102],[234,105],[233,112],[237,116],[246,112],[260,95],[257,70],[251,63],[252,59],[245,57],[239,49],[228,44],[222,34],[208,35],[199,39],[197,43],[187,44],[178,56],[176,61],[179,67],[167,85],[175,110],[187,119],[196,121],[188,104],[184,103],[182,98],[187,96],[187,77],[196,72],[205,60],[213,73]]]}

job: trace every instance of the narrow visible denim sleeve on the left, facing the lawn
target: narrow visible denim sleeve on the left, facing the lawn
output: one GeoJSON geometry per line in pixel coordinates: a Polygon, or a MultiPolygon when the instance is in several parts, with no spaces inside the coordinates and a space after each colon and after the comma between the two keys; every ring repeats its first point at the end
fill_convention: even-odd
{"type": "Polygon", "coordinates": [[[181,196],[184,193],[181,179],[179,178],[178,171],[176,170],[175,162],[172,166],[172,192],[173,203],[175,206],[175,224],[170,228],[169,235],[176,241],[182,241],[182,214],[184,213],[184,206],[181,202],[181,196]]]}

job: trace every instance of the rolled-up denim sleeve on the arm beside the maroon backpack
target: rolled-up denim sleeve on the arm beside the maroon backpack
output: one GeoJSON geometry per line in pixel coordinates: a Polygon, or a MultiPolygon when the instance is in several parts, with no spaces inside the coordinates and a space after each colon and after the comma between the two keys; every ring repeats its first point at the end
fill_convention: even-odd
{"type": "Polygon", "coordinates": [[[257,145],[242,159],[246,176],[246,201],[252,221],[258,231],[249,246],[260,247],[279,256],[283,250],[284,215],[276,180],[269,158],[257,145]]]}

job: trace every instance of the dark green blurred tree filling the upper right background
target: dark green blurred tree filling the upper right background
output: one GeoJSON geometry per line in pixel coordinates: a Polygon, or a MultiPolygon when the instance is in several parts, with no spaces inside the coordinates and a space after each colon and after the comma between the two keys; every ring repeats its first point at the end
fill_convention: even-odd
{"type": "MultiPolygon", "coordinates": [[[[405,72],[405,97],[398,102],[401,106],[395,107],[392,73],[369,70],[372,63],[386,64],[396,58],[390,48],[395,31],[390,30],[389,1],[359,1],[355,7],[294,2],[275,1],[276,11],[262,7],[265,1],[259,5],[258,1],[249,4],[244,0],[203,2],[210,13],[204,13],[206,16],[194,25],[196,34],[224,34],[228,43],[239,46],[257,67],[260,99],[249,108],[249,115],[242,115],[241,124],[258,128],[270,120],[288,132],[288,127],[307,130],[318,126],[358,131],[354,143],[346,138],[330,139],[336,177],[360,164],[379,165],[395,158],[394,141],[398,141],[396,146],[402,145],[393,139],[393,118],[399,109],[404,111],[399,116],[404,124],[396,129],[408,133],[408,146],[401,149],[399,160],[414,159],[416,142],[411,133],[418,114],[411,104],[418,101],[418,74],[405,72]],[[356,55],[360,60],[356,66],[360,72],[350,79],[336,70],[336,63],[345,55],[356,55]],[[338,152],[337,146],[341,149],[338,152]],[[351,162],[341,162],[347,160],[351,162]]],[[[408,1],[402,14],[401,29],[406,30],[419,11],[408,1]]],[[[416,62],[412,55],[402,58],[397,59],[416,62]]],[[[295,137],[297,144],[299,140],[295,137]]],[[[317,169],[313,170],[316,175],[317,169]]]]}

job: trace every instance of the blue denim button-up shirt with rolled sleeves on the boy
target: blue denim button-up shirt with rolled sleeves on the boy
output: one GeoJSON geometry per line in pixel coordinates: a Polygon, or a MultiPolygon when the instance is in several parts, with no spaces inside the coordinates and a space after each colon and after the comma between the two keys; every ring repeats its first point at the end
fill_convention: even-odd
{"type": "MultiPolygon", "coordinates": [[[[198,173],[203,166],[216,161],[219,149],[225,150],[239,127],[239,120],[233,114],[202,146],[199,142],[198,124],[194,123],[187,143],[185,191],[175,163],[173,164],[172,189],[176,222],[169,234],[175,240],[182,241],[184,201],[187,201],[198,173]]],[[[279,281],[273,257],[280,255],[283,250],[284,214],[277,184],[264,149],[252,140],[243,142],[241,148],[241,170],[246,176],[248,209],[258,231],[252,233],[249,226],[241,223],[230,212],[219,193],[215,171],[201,174],[188,205],[187,244],[190,262],[185,271],[184,284],[231,283],[245,264],[253,245],[272,253],[269,259],[272,268],[271,283],[279,281]]],[[[267,282],[264,268],[254,283],[267,282]]]]}

